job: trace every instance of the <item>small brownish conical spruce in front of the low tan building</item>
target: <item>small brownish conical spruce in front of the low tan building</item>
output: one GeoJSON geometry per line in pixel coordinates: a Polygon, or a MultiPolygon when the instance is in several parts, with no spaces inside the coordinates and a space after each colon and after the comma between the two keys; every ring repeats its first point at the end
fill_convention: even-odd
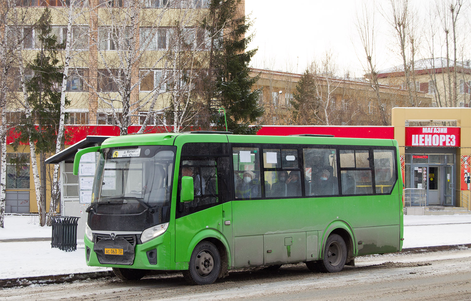
{"type": "Polygon", "coordinates": [[[319,109],[317,104],[316,85],[309,69],[302,74],[296,84],[296,92],[293,93],[293,121],[299,125],[318,125],[317,118],[319,109]]]}

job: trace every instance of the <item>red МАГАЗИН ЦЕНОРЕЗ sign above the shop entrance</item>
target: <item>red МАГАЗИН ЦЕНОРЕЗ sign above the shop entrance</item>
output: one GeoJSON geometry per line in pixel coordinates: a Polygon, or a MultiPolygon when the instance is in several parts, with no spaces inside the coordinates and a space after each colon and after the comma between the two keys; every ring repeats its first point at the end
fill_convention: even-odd
{"type": "Polygon", "coordinates": [[[459,127],[406,127],[406,146],[460,146],[459,127]]]}

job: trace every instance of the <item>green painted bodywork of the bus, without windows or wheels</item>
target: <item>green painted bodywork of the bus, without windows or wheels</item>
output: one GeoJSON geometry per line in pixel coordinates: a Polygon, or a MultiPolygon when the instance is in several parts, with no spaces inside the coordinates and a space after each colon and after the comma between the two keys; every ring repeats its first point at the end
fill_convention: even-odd
{"type": "MultiPolygon", "coordinates": [[[[274,143],[297,145],[395,146],[390,139],[278,137],[222,134],[162,133],[106,139],[101,148],[140,145],[177,146],[169,228],[145,244],[136,246],[132,266],[101,265],[92,250],[88,265],[122,268],[187,269],[195,245],[217,239],[226,248],[229,268],[318,260],[329,234],[349,236],[353,256],[396,252],[402,249],[402,175],[390,195],[358,195],[267,200],[236,200],[175,219],[181,148],[188,142],[274,143]],[[226,224],[226,222],[229,222],[226,224]],[[361,241],[362,244],[358,244],[361,241]],[[395,243],[394,243],[395,242],[395,243]],[[149,265],[146,251],[157,248],[157,265],[149,265]]],[[[400,161],[397,162],[400,168],[400,161]]]]}

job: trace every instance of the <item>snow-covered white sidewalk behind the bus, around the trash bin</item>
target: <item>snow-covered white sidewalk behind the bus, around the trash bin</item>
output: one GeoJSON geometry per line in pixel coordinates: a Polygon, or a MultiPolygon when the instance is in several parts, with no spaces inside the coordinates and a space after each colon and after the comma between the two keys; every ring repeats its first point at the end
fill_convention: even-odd
{"type": "MultiPolygon", "coordinates": [[[[85,264],[83,239],[77,251],[52,249],[49,241],[5,241],[14,238],[51,237],[51,227],[41,228],[37,216],[5,216],[0,228],[0,279],[87,273],[110,268],[85,264]]],[[[405,215],[404,248],[471,244],[471,215],[405,215]]]]}

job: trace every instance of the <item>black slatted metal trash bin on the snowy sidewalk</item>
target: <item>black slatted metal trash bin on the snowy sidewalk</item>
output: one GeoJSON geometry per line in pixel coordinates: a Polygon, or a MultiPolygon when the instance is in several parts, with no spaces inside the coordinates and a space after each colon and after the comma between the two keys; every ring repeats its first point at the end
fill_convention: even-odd
{"type": "Polygon", "coordinates": [[[80,217],[53,216],[51,248],[65,252],[77,250],[77,221],[80,217]]]}

